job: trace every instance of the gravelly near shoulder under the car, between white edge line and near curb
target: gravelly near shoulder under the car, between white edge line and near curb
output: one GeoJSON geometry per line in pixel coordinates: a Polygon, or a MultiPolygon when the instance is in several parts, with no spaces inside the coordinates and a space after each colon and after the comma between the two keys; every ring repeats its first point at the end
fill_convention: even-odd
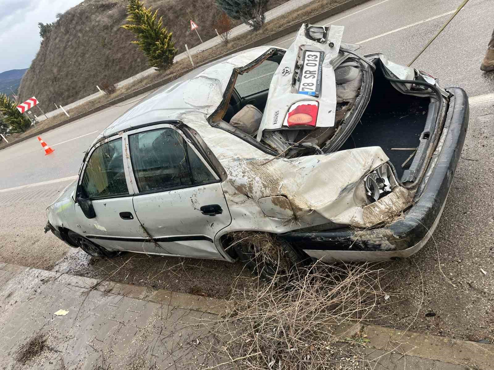
{"type": "MultiPolygon", "coordinates": [[[[412,258],[381,262],[373,324],[494,343],[494,114],[471,109],[467,140],[433,238],[412,258]],[[484,270],[486,274],[482,272],[484,270]]],[[[110,281],[227,297],[240,263],[124,254],[89,258],[43,234],[45,207],[66,184],[0,193],[0,261],[110,281]]]]}

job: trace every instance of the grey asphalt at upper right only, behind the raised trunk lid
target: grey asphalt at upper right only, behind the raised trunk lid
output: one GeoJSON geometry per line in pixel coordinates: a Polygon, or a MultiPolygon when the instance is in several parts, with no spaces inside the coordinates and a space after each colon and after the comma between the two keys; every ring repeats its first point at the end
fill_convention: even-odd
{"type": "MultiPolygon", "coordinates": [[[[343,40],[360,44],[364,54],[380,52],[408,65],[461,2],[373,0],[320,24],[345,26],[343,40]]],[[[494,28],[493,9],[494,0],[470,0],[412,66],[469,96],[494,92],[494,75],[479,70],[494,28]]],[[[274,45],[288,47],[294,36],[274,45]]]]}

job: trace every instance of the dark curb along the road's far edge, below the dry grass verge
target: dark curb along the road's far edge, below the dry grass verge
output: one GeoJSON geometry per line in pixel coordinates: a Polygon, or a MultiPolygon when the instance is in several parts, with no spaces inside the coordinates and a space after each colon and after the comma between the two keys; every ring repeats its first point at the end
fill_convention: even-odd
{"type": "MultiPolygon", "coordinates": [[[[296,22],[286,28],[284,28],[283,30],[280,30],[280,31],[276,31],[268,36],[265,36],[265,37],[262,37],[262,38],[259,38],[258,40],[255,40],[255,41],[252,41],[252,42],[249,42],[247,44],[245,44],[244,46],[241,46],[241,47],[238,47],[236,49],[233,49],[233,50],[230,50],[228,51],[227,53],[224,53],[224,54],[221,54],[221,55],[218,55],[214,58],[211,58],[209,60],[207,60],[206,62],[203,62],[203,63],[200,63],[200,64],[197,64],[195,68],[198,68],[198,67],[201,67],[201,66],[204,66],[205,64],[207,63],[210,63],[210,62],[214,62],[215,60],[218,60],[218,59],[221,59],[227,55],[230,55],[230,54],[234,54],[234,53],[237,53],[239,51],[243,51],[243,50],[246,50],[246,49],[250,49],[250,48],[253,48],[253,47],[257,47],[257,46],[261,46],[261,45],[264,45],[266,43],[269,43],[269,41],[273,41],[273,40],[276,40],[280,37],[283,37],[285,35],[288,35],[289,33],[291,32],[295,32],[297,31],[300,26],[302,25],[302,23],[317,23],[323,19],[326,19],[328,17],[331,17],[335,14],[338,14],[338,13],[341,13],[342,11],[345,11],[345,10],[348,10],[356,5],[360,5],[364,2],[367,2],[369,0],[348,0],[348,1],[345,1],[343,2],[342,4],[339,4],[339,5],[336,5],[336,6],[333,6],[332,8],[329,8],[329,9],[326,9],[326,10],[323,10],[322,12],[320,13],[317,13],[317,14],[314,14],[312,17],[309,17],[309,18],[306,18],[304,19],[303,21],[300,21],[300,22],[296,22]]],[[[93,108],[93,109],[90,109],[89,111],[85,111],[83,113],[80,113],[80,114],[77,114],[75,116],[72,116],[62,122],[59,122],[59,123],[56,123],[52,126],[49,126],[49,127],[45,127],[37,132],[33,132],[23,138],[20,138],[20,139],[17,139],[15,141],[12,141],[8,144],[5,144],[3,146],[0,147],[0,150],[1,149],[5,149],[5,148],[8,148],[14,144],[18,144],[18,143],[21,143],[25,140],[28,140],[28,139],[31,139],[31,138],[34,138],[36,136],[39,136],[41,135],[42,133],[44,132],[47,132],[47,131],[50,131],[50,130],[53,130],[55,128],[58,128],[60,126],[63,126],[67,123],[70,123],[70,122],[73,122],[73,121],[76,121],[82,117],[85,117],[87,115],[90,115],[92,113],[95,113],[97,111],[101,111],[105,108],[107,108],[109,105],[114,105],[114,104],[117,104],[117,103],[121,103],[123,102],[124,100],[127,100],[127,99],[130,99],[134,96],[137,96],[137,95],[140,95],[142,93],[145,93],[145,92],[148,92],[150,90],[153,90],[153,89],[156,89],[157,87],[160,87],[160,86],[163,86],[165,85],[166,83],[174,80],[175,78],[178,78],[184,74],[187,74],[189,73],[190,71],[192,71],[193,69],[189,69],[189,70],[186,70],[180,74],[173,74],[171,76],[168,76],[162,80],[159,80],[157,82],[154,82],[148,86],[144,86],[138,90],[135,90],[131,93],[128,93],[128,94],[124,94],[114,100],[111,100],[109,101],[108,103],[105,103],[104,105],[101,105],[101,106],[98,106],[96,108],[93,108]]]]}

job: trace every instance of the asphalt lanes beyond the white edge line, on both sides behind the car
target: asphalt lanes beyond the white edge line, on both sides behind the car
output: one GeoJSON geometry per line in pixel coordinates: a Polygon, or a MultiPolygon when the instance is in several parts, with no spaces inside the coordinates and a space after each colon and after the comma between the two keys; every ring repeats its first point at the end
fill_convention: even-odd
{"type": "MultiPolygon", "coordinates": [[[[320,24],[345,26],[344,40],[361,44],[364,53],[382,52],[397,63],[408,64],[449,18],[451,14],[446,13],[452,13],[460,2],[373,0],[320,24]]],[[[439,77],[443,86],[461,86],[469,96],[493,93],[494,74],[479,70],[494,27],[493,9],[494,0],[470,0],[413,66],[439,77]]],[[[272,44],[288,47],[293,37],[272,44]]],[[[0,189],[77,174],[82,152],[98,132],[131,106],[111,107],[44,133],[42,139],[55,149],[49,156],[40,155],[36,138],[1,150],[0,189]]]]}

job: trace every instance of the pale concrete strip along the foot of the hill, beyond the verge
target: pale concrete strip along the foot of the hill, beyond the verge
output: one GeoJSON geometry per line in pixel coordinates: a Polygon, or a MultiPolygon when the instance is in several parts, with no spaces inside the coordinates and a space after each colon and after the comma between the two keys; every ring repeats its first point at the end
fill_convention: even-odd
{"type": "MultiPolygon", "coordinates": [[[[298,8],[300,6],[303,6],[304,4],[308,4],[309,2],[311,2],[312,0],[289,0],[279,6],[277,6],[276,8],[273,8],[269,11],[266,12],[266,22],[271,20],[271,19],[274,19],[274,18],[277,18],[277,17],[280,17],[288,12],[290,12],[291,10],[295,9],[295,8],[298,8]]],[[[235,37],[235,36],[238,36],[238,35],[242,35],[242,34],[245,34],[246,32],[249,31],[249,27],[246,26],[245,24],[242,24],[240,26],[237,26],[235,28],[232,28],[231,30],[231,34],[230,34],[230,37],[235,37]]],[[[197,46],[194,46],[193,48],[189,49],[189,52],[191,53],[191,55],[194,55],[194,54],[198,54],[204,50],[207,50],[207,49],[210,49],[211,47],[214,47],[216,45],[219,45],[221,42],[223,42],[221,40],[220,37],[218,36],[215,36],[213,38],[210,38],[208,40],[206,40],[205,42],[203,42],[202,44],[199,44],[197,46]]],[[[187,58],[187,54],[186,52],[183,52],[183,53],[180,53],[178,55],[175,56],[175,58],[173,59],[173,62],[177,62],[183,58],[187,58]]],[[[129,78],[126,78],[124,79],[123,81],[120,81],[118,83],[116,83],[115,85],[117,86],[117,88],[120,88],[120,87],[123,87],[123,86],[126,86],[132,82],[135,82],[137,80],[140,80],[142,79],[143,77],[146,77],[150,74],[153,74],[156,72],[156,69],[154,67],[151,67],[151,68],[148,68],[147,70],[145,71],[142,71],[138,74],[135,74],[129,78]]],[[[96,86],[94,86],[95,89],[96,86]]],[[[89,102],[93,99],[96,99],[102,95],[104,95],[105,93],[102,92],[102,91],[98,91],[94,94],[91,94],[91,95],[88,95],[82,99],[79,99],[73,103],[70,103],[70,104],[67,104],[67,105],[64,105],[63,108],[66,110],[66,111],[69,111],[77,106],[80,106],[86,102],[89,102]]],[[[54,111],[49,111],[49,112],[46,112],[46,116],[49,118],[49,117],[53,117],[55,115],[58,115],[60,113],[64,113],[62,111],[61,108],[59,109],[56,109],[54,111]]],[[[46,117],[44,115],[39,115],[37,117],[38,121],[42,121],[44,119],[46,119],[46,117]]]]}

